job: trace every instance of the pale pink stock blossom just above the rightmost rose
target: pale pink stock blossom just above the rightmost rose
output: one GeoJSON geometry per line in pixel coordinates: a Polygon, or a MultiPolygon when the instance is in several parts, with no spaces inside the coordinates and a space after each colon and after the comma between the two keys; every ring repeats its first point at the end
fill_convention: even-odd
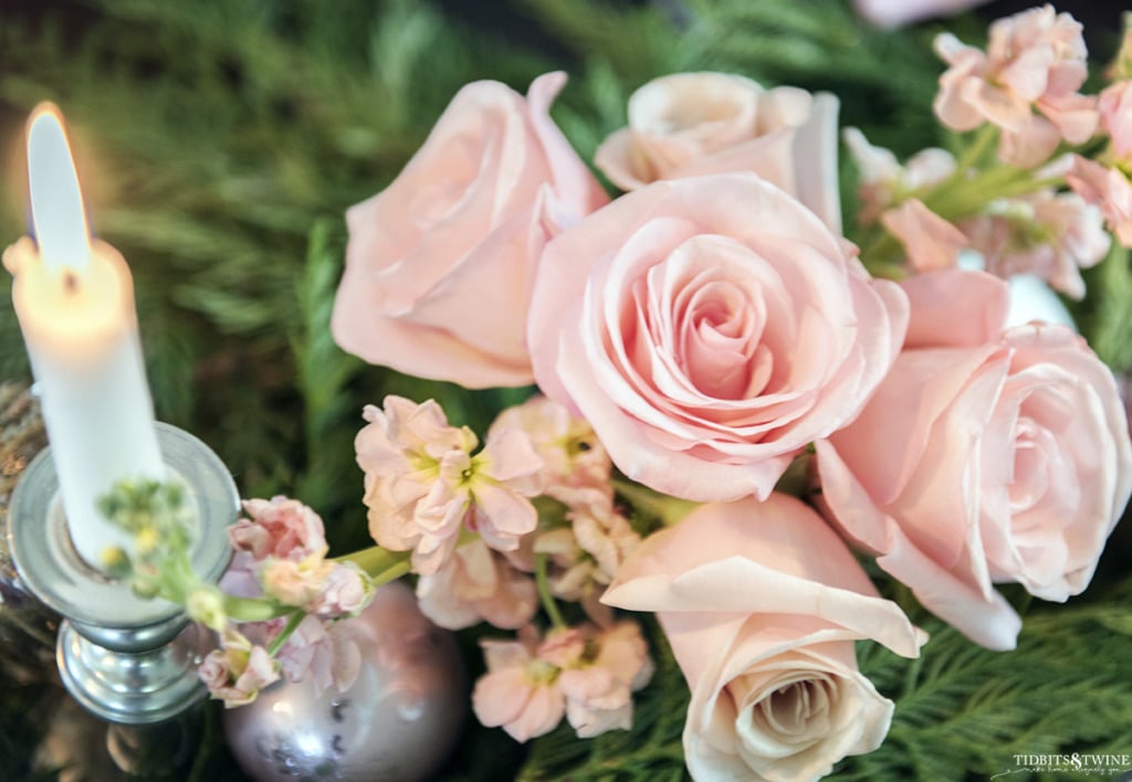
{"type": "Polygon", "coordinates": [[[1098,264],[1112,243],[1096,206],[1053,190],[990,204],[962,229],[990,274],[1031,274],[1077,300],[1084,298],[1080,269],[1098,264]]]}

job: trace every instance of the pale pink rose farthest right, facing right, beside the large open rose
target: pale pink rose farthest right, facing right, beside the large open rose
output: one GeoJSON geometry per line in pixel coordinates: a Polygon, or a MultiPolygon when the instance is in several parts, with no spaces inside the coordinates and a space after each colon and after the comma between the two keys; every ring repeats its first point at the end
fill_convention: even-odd
{"type": "Polygon", "coordinates": [[[997,336],[985,313],[1005,311],[1006,291],[977,272],[917,277],[916,341],[860,416],[816,444],[831,517],[926,608],[997,650],[1020,620],[993,585],[1080,593],[1132,491],[1112,372],[1064,326],[997,336]]]}

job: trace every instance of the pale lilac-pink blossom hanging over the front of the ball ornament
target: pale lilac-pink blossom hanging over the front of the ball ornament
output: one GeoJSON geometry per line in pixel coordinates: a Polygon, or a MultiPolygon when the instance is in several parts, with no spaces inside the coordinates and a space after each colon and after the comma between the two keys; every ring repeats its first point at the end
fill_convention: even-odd
{"type": "Polygon", "coordinates": [[[280,648],[278,662],[289,681],[309,679],[317,697],[329,687],[350,689],[361,670],[361,650],[350,620],[307,616],[280,648]]]}

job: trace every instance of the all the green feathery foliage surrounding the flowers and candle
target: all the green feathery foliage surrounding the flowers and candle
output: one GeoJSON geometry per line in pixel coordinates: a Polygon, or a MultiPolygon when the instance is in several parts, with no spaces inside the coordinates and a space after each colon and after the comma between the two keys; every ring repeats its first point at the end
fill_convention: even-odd
{"type": "MultiPolygon", "coordinates": [[[[978,20],[952,28],[985,35],[978,20]]],[[[523,91],[540,72],[568,70],[555,119],[591,158],[648,79],[731,70],[834,92],[844,124],[906,155],[946,141],[931,117],[934,32],[869,28],[842,0],[15,3],[0,10],[0,134],[9,172],[19,171],[23,119],[44,98],[62,106],[94,229],[135,274],[158,416],[220,453],[246,496],[285,492],[315,506],[341,552],[367,540],[352,449],[363,404],[432,397],[482,432],[526,393],[473,394],[368,367],[327,329],[343,210],[396,175],[463,84],[496,78],[523,91]]],[[[25,231],[23,181],[9,180],[5,243],[25,231]]],[[[1126,256],[1114,252],[1088,282],[1086,334],[1114,367],[1132,366],[1126,256]]],[[[0,274],[0,295],[9,286],[0,274]]],[[[0,379],[27,373],[14,312],[0,307],[0,379]]],[[[1132,750],[1122,569],[1106,570],[1107,593],[1030,611],[1011,654],[921,613],[933,633],[921,661],[863,645],[863,670],[899,705],[884,747],[839,775],[962,779],[1006,771],[1014,753],[1132,750]]],[[[497,780],[518,764],[532,782],[684,777],[687,690],[648,625],[658,671],[633,731],[583,742],[564,727],[518,748],[470,720],[444,779],[497,780]]],[[[474,635],[461,638],[474,673],[474,635]]],[[[33,744],[41,723],[26,716],[43,701],[2,671],[0,681],[0,751],[17,753],[33,744]]],[[[215,712],[205,727],[196,777],[240,779],[215,712]]],[[[18,779],[29,773],[22,760],[0,768],[18,779]]]]}

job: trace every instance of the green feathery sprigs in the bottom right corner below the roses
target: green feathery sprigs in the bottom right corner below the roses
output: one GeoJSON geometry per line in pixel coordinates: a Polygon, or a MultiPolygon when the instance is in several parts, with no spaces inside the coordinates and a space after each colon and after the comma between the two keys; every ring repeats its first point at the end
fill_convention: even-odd
{"type": "MultiPolygon", "coordinates": [[[[897,702],[885,745],[843,779],[963,779],[1017,771],[1013,755],[1127,753],[1132,581],[1073,610],[1026,616],[1018,648],[989,652],[938,620],[911,665],[874,645],[860,668],[897,702]]],[[[840,779],[840,776],[839,776],[840,779]]]]}

